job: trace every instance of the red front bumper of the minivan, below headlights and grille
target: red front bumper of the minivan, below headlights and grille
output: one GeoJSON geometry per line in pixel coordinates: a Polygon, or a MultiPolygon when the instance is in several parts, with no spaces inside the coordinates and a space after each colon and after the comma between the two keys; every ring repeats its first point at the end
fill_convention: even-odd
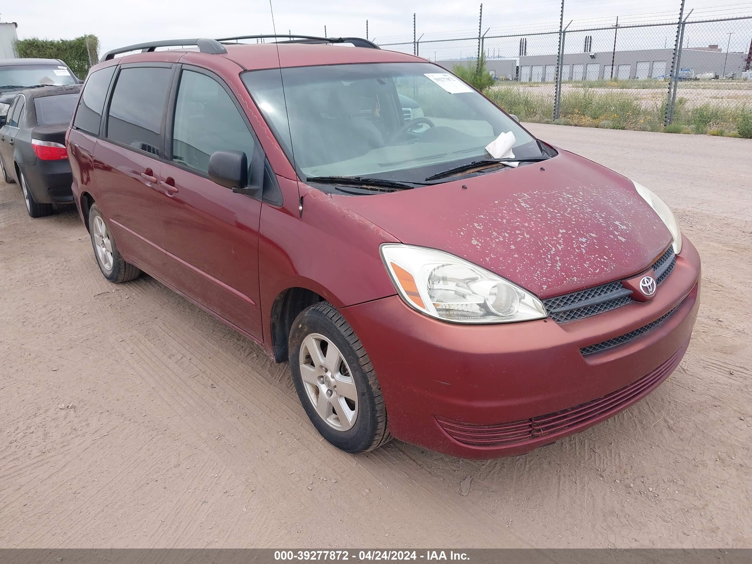
{"type": "Polygon", "coordinates": [[[463,326],[426,317],[398,296],[342,314],[368,351],[396,438],[488,459],[587,429],[668,378],[690,340],[699,281],[699,255],[684,238],[674,271],[649,302],[570,323],[463,326]],[[672,310],[624,344],[586,356],[580,351],[672,310]],[[520,432],[525,426],[527,434],[520,432]]]}

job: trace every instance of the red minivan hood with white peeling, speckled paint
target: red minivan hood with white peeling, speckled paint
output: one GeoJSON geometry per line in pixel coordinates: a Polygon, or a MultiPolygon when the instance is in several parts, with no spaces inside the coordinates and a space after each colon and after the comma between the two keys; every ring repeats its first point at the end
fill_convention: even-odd
{"type": "Polygon", "coordinates": [[[628,178],[564,150],[436,186],[332,197],[405,244],[446,250],[541,298],[637,274],[672,242],[628,178]]]}

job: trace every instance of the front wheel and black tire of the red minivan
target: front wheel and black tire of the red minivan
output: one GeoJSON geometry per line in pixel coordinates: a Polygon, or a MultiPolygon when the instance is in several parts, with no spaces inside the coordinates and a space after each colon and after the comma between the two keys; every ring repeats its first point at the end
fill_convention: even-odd
{"type": "Polygon", "coordinates": [[[329,302],[299,314],[288,350],[300,401],[327,441],[348,453],[367,452],[390,441],[387,408],[371,360],[329,302]]]}

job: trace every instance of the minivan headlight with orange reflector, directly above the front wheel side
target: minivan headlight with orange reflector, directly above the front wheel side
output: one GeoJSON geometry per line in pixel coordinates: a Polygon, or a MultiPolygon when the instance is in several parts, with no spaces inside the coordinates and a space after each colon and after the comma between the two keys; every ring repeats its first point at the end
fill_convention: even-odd
{"type": "Polygon", "coordinates": [[[543,319],[541,300],[459,256],[403,244],[381,245],[399,295],[424,314],[455,323],[543,319]]]}

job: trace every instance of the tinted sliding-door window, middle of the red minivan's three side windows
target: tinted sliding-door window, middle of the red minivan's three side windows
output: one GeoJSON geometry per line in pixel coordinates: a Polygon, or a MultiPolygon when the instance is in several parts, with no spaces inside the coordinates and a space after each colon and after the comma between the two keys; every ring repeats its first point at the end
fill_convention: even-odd
{"type": "Polygon", "coordinates": [[[159,155],[159,129],[171,68],[123,68],[117,75],[107,117],[107,138],[159,155]]]}

